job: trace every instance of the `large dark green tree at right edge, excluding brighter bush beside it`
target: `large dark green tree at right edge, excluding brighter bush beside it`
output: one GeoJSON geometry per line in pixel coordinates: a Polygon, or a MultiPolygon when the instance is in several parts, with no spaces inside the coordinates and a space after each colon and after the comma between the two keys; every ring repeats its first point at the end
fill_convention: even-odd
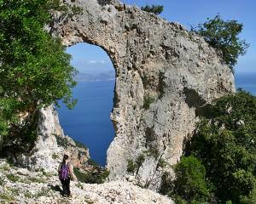
{"type": "Polygon", "coordinates": [[[219,201],[253,203],[256,176],[256,98],[238,90],[217,99],[192,139],[219,201]]]}

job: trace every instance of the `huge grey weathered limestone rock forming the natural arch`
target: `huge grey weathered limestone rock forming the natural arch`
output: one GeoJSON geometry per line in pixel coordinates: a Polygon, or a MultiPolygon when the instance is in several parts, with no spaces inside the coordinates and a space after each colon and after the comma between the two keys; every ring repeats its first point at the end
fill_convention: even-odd
{"type": "Polygon", "coordinates": [[[182,156],[201,106],[235,91],[229,67],[202,37],[140,8],[111,0],[63,3],[83,14],[65,23],[56,14],[55,35],[67,46],[103,48],[116,71],[109,178],[158,189],[162,173],[182,156]]]}

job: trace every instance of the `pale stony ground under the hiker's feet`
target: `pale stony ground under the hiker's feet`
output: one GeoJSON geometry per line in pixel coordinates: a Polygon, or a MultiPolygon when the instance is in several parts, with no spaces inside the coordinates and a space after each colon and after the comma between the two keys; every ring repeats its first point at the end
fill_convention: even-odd
{"type": "Polygon", "coordinates": [[[72,181],[71,190],[73,197],[63,198],[56,173],[32,172],[26,168],[12,167],[5,160],[0,160],[1,203],[173,203],[164,195],[122,181],[105,184],[72,181]]]}

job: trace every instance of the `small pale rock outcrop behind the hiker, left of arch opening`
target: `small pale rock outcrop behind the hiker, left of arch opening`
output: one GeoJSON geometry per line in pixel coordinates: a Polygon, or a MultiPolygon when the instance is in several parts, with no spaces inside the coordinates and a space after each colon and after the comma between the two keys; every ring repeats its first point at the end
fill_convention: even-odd
{"type": "Polygon", "coordinates": [[[15,161],[17,164],[32,170],[45,169],[56,172],[64,154],[71,157],[76,167],[83,165],[90,158],[89,150],[64,135],[53,106],[40,110],[39,115],[36,145],[29,155],[18,156],[15,161]]]}

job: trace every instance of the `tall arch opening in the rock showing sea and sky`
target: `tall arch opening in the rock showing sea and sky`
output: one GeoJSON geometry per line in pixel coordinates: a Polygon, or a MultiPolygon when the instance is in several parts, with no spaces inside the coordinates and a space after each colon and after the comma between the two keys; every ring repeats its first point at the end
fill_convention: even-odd
{"type": "Polygon", "coordinates": [[[80,42],[69,48],[71,64],[79,71],[73,88],[78,99],[73,110],[65,105],[58,108],[65,134],[90,151],[90,159],[102,167],[106,165],[107,150],[114,137],[110,113],[113,109],[115,71],[108,54],[100,47],[80,42]]]}

